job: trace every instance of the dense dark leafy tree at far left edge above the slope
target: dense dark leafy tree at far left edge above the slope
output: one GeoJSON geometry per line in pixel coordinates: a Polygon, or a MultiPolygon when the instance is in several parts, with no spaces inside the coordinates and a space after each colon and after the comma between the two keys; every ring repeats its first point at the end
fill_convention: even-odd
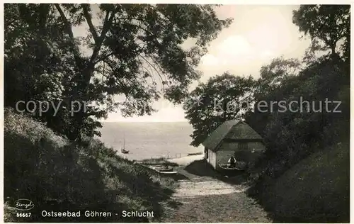
{"type": "MultiPolygon", "coordinates": [[[[14,108],[20,101],[65,101],[74,62],[55,9],[47,4],[5,4],[4,14],[4,104],[14,108]]],[[[17,106],[25,109],[23,103],[17,106]]],[[[61,106],[56,114],[52,104],[49,107],[34,116],[57,133],[69,132],[69,107],[61,106]]]]}

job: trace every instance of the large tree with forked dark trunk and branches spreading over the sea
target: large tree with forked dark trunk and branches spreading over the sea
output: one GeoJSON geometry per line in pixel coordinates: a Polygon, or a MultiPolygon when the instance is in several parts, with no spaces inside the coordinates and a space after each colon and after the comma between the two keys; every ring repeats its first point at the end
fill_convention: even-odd
{"type": "MultiPolygon", "coordinates": [[[[5,61],[6,85],[11,86],[13,79],[22,83],[23,79],[29,79],[31,84],[21,91],[25,99],[32,96],[27,91],[38,87],[32,78],[19,75],[33,67],[28,60],[22,60],[24,65],[19,72],[10,66],[10,62],[19,60],[16,50],[36,62],[39,58],[49,60],[47,55],[57,59],[56,63],[36,63],[37,69],[31,72],[43,82],[46,79],[43,74],[51,71],[47,76],[55,80],[47,83],[47,87],[55,89],[56,83],[62,91],[49,92],[58,93],[55,97],[67,103],[61,113],[67,115],[68,106],[80,102],[81,108],[76,108],[74,116],[52,121],[64,120],[64,133],[72,140],[81,139],[82,134],[98,134],[93,131],[99,125],[94,118],[103,118],[115,108],[131,116],[152,113],[152,101],[161,96],[181,103],[188,85],[200,77],[196,67],[208,43],[232,22],[219,20],[214,6],[191,4],[7,4],[5,21],[5,39],[8,39],[5,51],[14,55],[5,61]],[[13,28],[14,23],[22,29],[13,28]],[[74,36],[76,26],[89,28],[84,38],[74,36]],[[181,45],[189,38],[196,40],[195,46],[184,50],[181,45]],[[40,51],[30,54],[28,42],[33,42],[40,51]],[[16,49],[11,47],[13,43],[18,45],[16,49]],[[18,73],[13,79],[9,78],[14,73],[11,70],[18,73]],[[114,95],[125,96],[126,101],[115,103],[114,95]],[[143,111],[137,106],[141,102],[143,111]],[[110,106],[102,109],[102,104],[110,106]]],[[[15,101],[10,94],[8,89],[7,104],[13,106],[15,101]]],[[[59,126],[53,124],[52,128],[55,127],[59,126]]],[[[55,129],[63,132],[61,128],[55,129]]]]}

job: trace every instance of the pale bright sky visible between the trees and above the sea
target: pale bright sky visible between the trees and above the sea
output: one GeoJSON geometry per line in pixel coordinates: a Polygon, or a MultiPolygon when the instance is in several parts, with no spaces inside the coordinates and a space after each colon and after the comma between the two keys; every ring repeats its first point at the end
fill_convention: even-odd
{"type": "MultiPolygon", "coordinates": [[[[292,23],[292,11],[299,6],[227,5],[216,9],[219,18],[234,18],[229,28],[222,30],[210,43],[198,69],[203,73],[200,82],[223,72],[236,76],[259,77],[262,65],[273,58],[300,58],[309,47],[308,38],[302,38],[298,27],[292,23]]],[[[188,45],[188,43],[186,43],[188,45]]],[[[195,82],[190,90],[198,85],[195,82]]],[[[110,113],[110,122],[177,122],[187,121],[182,106],[161,99],[153,104],[158,112],[152,116],[123,118],[120,113],[110,113]]]]}

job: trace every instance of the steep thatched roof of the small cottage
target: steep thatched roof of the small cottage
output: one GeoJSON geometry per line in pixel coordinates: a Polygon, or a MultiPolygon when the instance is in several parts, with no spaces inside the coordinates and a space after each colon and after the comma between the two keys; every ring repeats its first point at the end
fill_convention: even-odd
{"type": "Polygon", "coordinates": [[[248,124],[243,121],[230,120],[219,125],[216,130],[202,143],[205,147],[212,151],[216,151],[222,140],[262,140],[248,124]]]}

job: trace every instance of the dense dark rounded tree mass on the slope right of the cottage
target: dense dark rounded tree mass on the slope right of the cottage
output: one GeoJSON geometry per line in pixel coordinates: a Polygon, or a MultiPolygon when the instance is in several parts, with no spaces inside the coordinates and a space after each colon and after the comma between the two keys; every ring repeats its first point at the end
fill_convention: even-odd
{"type": "Polygon", "coordinates": [[[350,72],[345,62],[321,57],[303,68],[293,62],[273,60],[261,69],[254,99],[256,103],[265,101],[268,106],[274,102],[273,111],[268,108],[263,112],[255,107],[246,114],[246,122],[263,136],[268,159],[265,164],[273,177],[279,177],[316,150],[348,140],[350,72]],[[329,103],[325,107],[326,100],[341,100],[341,105],[337,108],[338,104],[329,103]],[[285,102],[285,110],[280,108],[280,101],[285,102]],[[290,111],[290,102],[294,101],[297,103],[290,111]],[[343,113],[331,112],[335,109],[343,113]]]}

